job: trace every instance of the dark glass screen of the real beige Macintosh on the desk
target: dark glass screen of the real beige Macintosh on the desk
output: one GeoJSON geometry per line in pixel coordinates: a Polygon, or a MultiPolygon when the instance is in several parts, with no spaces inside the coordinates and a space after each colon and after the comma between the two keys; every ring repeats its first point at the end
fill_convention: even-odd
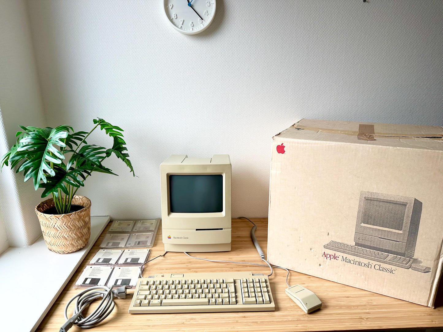
{"type": "Polygon", "coordinates": [[[223,175],[169,175],[170,211],[223,212],[223,175]]]}

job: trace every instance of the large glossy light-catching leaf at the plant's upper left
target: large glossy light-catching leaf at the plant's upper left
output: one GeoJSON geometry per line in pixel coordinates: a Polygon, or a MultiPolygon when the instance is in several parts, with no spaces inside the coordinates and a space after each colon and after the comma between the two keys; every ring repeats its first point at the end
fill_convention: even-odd
{"type": "Polygon", "coordinates": [[[30,178],[34,181],[34,188],[39,188],[40,181],[46,183],[46,174],[55,175],[54,170],[47,162],[61,164],[65,157],[55,146],[66,147],[63,139],[72,130],[70,126],[58,126],[55,128],[22,127],[25,134],[20,139],[20,145],[13,156],[9,156],[9,161],[19,162],[26,159],[17,172],[23,171],[24,181],[30,178]]]}

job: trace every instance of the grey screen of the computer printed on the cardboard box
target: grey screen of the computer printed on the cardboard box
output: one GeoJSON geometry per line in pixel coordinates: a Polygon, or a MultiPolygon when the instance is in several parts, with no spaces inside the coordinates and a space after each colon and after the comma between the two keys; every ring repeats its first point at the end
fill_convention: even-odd
{"type": "Polygon", "coordinates": [[[406,202],[366,197],[361,223],[401,231],[406,207],[406,202]]]}

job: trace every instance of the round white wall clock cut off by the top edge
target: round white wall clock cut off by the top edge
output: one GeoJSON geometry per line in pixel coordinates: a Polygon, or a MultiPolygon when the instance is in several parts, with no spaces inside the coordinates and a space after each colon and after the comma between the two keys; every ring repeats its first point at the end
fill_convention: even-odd
{"type": "Polygon", "coordinates": [[[163,8],[176,30],[194,35],[211,24],[215,15],[215,0],[163,0],[163,8]]]}

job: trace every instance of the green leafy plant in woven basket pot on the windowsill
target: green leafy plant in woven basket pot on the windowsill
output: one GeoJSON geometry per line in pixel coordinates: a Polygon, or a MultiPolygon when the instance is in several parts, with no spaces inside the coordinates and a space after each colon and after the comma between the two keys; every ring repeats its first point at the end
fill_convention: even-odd
{"type": "Polygon", "coordinates": [[[35,207],[49,250],[66,254],[77,251],[89,241],[91,230],[91,201],[76,195],[92,172],[114,174],[102,165],[105,158],[115,154],[134,170],[129,161],[120,127],[103,119],[93,120],[91,131],[74,132],[70,126],[55,128],[23,127],[16,134],[17,142],[4,154],[4,165],[23,172],[24,181],[32,179],[34,189],[43,188],[42,198],[52,197],[35,207]],[[86,138],[100,127],[114,140],[109,149],[88,144],[86,138]],[[69,156],[69,158],[66,158],[69,156]],[[65,161],[68,160],[66,163],[65,161]]]}

